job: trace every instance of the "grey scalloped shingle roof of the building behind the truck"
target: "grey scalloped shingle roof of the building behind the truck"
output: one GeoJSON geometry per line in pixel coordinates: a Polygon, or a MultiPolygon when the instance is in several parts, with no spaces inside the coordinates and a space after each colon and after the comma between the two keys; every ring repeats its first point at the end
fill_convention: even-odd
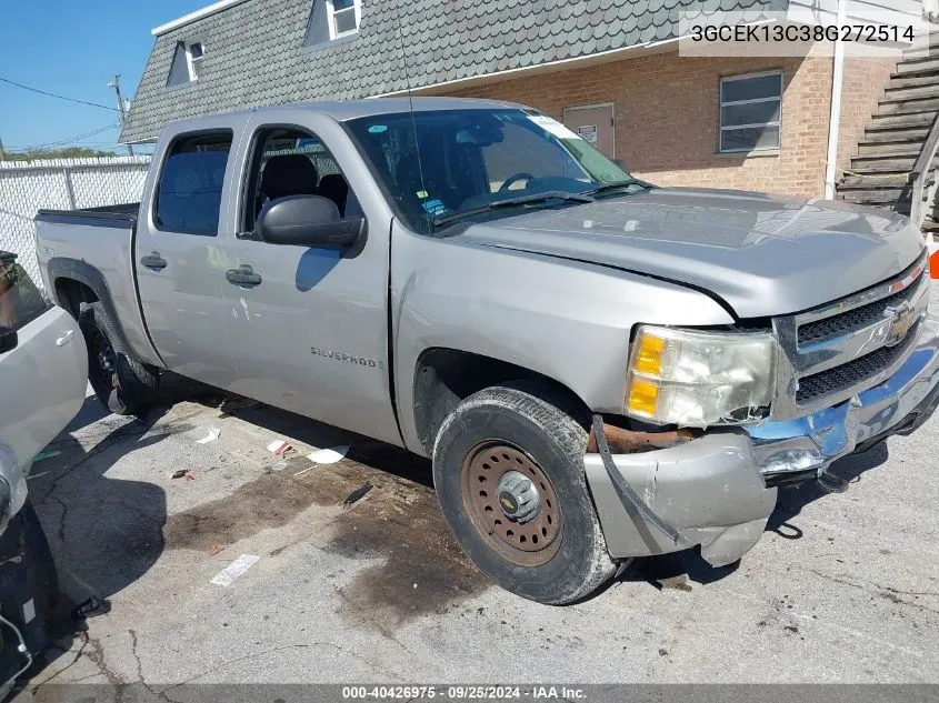
{"type": "Polygon", "coordinates": [[[314,1],[321,0],[236,1],[160,33],[121,141],[153,140],[179,118],[380,96],[665,41],[676,37],[683,9],[788,6],[788,0],[366,0],[354,38],[307,47],[314,1]],[[206,51],[199,80],[168,87],[177,44],[193,39],[206,51]]]}

